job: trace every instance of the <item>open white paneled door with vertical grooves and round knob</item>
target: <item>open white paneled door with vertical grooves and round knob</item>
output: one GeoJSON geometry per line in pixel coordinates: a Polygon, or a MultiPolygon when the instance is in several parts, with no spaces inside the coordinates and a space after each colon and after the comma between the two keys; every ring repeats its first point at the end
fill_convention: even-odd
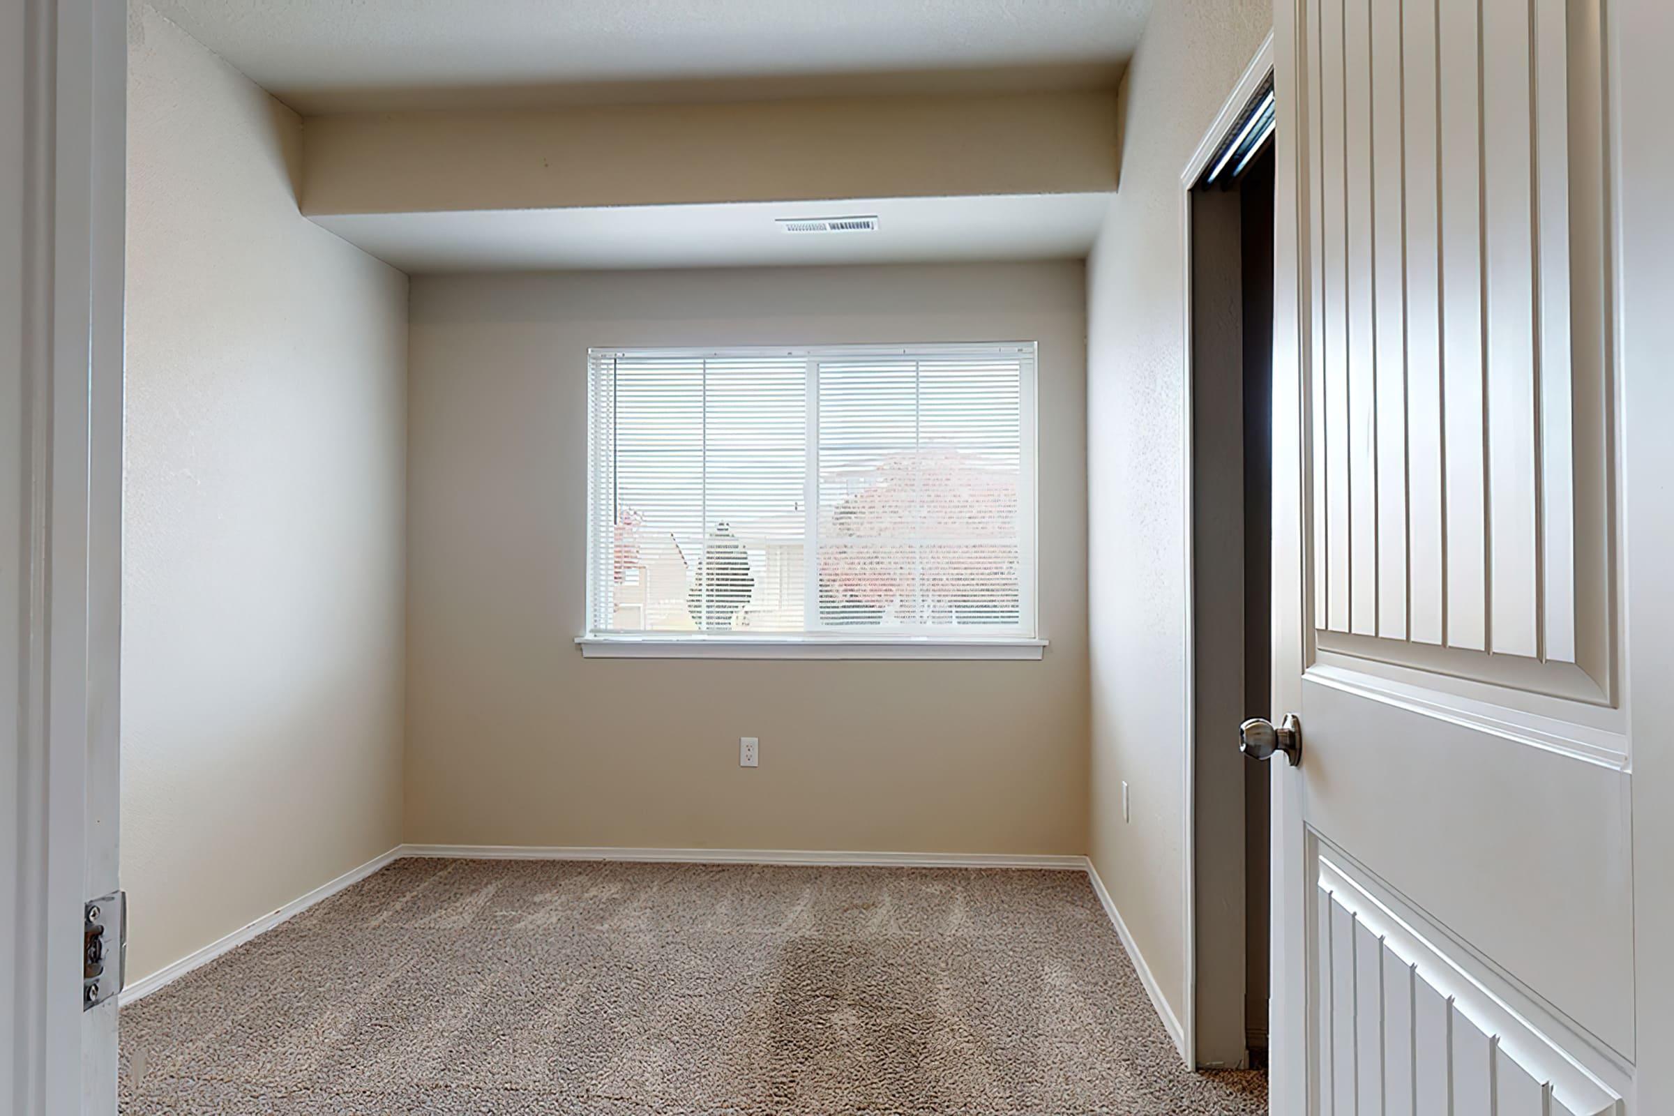
{"type": "Polygon", "coordinates": [[[1274,1111],[1614,1113],[1635,1001],[1604,5],[1276,15],[1274,674],[1302,760],[1276,780],[1274,1111]]]}

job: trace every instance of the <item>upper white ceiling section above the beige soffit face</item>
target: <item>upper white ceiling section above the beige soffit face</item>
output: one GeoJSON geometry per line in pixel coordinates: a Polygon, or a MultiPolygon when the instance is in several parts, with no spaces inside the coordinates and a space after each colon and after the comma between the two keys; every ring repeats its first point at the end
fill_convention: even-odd
{"type": "Polygon", "coordinates": [[[151,0],[298,112],[1075,87],[1152,0],[151,0]]]}

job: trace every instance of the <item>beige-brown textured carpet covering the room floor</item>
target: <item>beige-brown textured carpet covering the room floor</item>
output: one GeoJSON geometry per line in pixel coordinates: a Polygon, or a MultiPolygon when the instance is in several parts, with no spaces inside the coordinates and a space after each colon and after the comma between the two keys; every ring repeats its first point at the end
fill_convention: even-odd
{"type": "Polygon", "coordinates": [[[1080,872],[400,860],[122,1009],[129,1116],[1264,1113],[1080,872]]]}

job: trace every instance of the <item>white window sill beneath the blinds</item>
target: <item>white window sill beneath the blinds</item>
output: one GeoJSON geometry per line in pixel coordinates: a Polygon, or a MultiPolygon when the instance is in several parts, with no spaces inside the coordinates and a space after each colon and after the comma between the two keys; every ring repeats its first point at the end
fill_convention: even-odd
{"type": "Polygon", "coordinates": [[[1045,639],[579,636],[588,659],[1040,659],[1045,639]]]}

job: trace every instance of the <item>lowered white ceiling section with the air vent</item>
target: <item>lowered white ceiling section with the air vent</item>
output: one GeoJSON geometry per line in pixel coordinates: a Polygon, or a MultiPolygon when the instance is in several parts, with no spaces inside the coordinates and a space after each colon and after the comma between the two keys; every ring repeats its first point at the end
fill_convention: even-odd
{"type": "Polygon", "coordinates": [[[1086,256],[1110,194],[375,212],[311,218],[407,273],[723,268],[1086,256]],[[775,218],[876,214],[876,233],[775,218]]]}

